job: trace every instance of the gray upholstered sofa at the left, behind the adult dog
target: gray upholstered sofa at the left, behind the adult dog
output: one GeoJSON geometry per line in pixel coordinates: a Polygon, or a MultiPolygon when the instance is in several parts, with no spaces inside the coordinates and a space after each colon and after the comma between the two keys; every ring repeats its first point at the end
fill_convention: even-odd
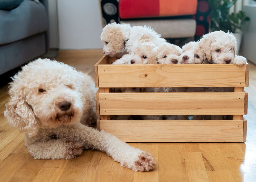
{"type": "Polygon", "coordinates": [[[47,0],[25,0],[11,10],[0,6],[0,75],[46,53],[47,6],[47,0]]]}

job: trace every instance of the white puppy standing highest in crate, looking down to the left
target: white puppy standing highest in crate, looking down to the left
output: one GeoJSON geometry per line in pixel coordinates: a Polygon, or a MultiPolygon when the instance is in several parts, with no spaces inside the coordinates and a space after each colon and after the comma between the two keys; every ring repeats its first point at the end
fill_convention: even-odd
{"type": "Polygon", "coordinates": [[[151,42],[156,46],[166,42],[150,27],[131,27],[129,24],[117,23],[107,24],[102,29],[100,38],[104,44],[103,54],[111,57],[121,52],[132,54],[135,48],[143,42],[151,42]]]}

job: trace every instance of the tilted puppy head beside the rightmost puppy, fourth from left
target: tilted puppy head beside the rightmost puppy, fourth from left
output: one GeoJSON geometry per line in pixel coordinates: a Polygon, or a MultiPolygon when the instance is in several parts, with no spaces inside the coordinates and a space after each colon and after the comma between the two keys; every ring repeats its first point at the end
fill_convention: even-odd
{"type": "Polygon", "coordinates": [[[205,60],[205,53],[200,49],[198,42],[189,42],[182,46],[180,64],[202,64],[205,60]]]}

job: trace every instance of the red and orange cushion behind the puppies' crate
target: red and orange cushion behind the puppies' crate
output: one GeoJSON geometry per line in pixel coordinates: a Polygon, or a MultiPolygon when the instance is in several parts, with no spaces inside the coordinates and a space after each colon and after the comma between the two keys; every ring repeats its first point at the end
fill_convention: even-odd
{"type": "Polygon", "coordinates": [[[120,0],[122,19],[196,14],[197,0],[120,0]]]}

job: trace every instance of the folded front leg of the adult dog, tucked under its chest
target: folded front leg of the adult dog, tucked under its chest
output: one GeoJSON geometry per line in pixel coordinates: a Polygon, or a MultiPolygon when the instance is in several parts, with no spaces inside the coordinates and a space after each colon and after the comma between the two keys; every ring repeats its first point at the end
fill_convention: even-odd
{"type": "Polygon", "coordinates": [[[27,146],[35,159],[72,159],[81,155],[83,144],[74,140],[52,139],[47,142],[35,142],[27,146]]]}

